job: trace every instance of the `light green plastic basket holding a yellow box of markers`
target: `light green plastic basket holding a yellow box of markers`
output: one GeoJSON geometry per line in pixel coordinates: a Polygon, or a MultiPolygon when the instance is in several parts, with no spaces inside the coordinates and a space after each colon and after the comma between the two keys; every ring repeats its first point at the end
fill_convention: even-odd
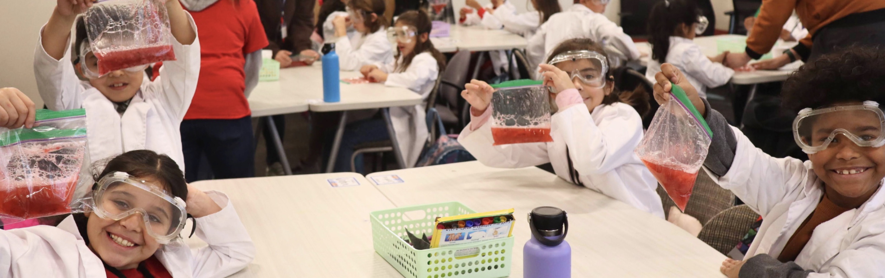
{"type": "MultiPolygon", "coordinates": [[[[458,202],[370,212],[374,250],[390,266],[396,268],[396,271],[409,278],[509,276],[514,248],[514,237],[511,234],[514,223],[512,210],[468,216],[474,213],[476,212],[458,202]],[[497,223],[494,216],[498,216],[497,223]],[[491,218],[491,221],[486,220],[483,225],[482,220],[487,218],[491,218]],[[466,227],[468,219],[479,219],[480,225],[466,227]],[[464,221],[464,228],[458,225],[458,221],[464,221]],[[439,224],[443,224],[442,229],[437,229],[439,224]],[[449,226],[445,227],[445,224],[449,226]],[[455,226],[458,228],[453,228],[452,225],[458,225],[455,226]],[[485,235],[481,235],[481,230],[485,230],[485,235]],[[418,238],[430,237],[431,246],[437,247],[415,249],[407,241],[407,231],[418,238]],[[434,241],[459,233],[465,233],[464,239],[449,242],[442,240],[433,245],[434,241]]],[[[475,223],[471,223],[473,224],[475,223]]]]}

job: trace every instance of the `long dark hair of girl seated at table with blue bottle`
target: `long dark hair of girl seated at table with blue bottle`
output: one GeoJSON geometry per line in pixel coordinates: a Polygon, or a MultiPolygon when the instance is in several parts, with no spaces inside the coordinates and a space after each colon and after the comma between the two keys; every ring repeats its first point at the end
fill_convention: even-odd
{"type": "Polygon", "coordinates": [[[399,64],[399,57],[403,55],[403,53],[396,52],[396,71],[404,71],[409,65],[412,65],[412,58],[415,58],[415,55],[423,53],[424,51],[429,51],[430,55],[436,59],[436,65],[439,66],[440,72],[443,72],[445,68],[445,56],[439,50],[436,50],[434,47],[434,42],[430,42],[430,30],[433,29],[433,23],[430,22],[430,17],[427,15],[427,12],[424,10],[418,9],[409,12],[403,12],[399,15],[399,18],[396,19],[396,22],[401,23],[403,25],[415,27],[415,49],[412,50],[412,53],[406,55],[403,58],[403,63],[399,64]],[[423,34],[427,34],[427,41],[421,42],[420,36],[423,34]]]}

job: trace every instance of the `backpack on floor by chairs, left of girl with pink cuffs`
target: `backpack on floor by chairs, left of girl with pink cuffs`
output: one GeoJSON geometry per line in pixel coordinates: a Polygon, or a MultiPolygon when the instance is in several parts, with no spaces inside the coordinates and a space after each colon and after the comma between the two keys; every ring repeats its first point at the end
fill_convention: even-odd
{"type": "Polygon", "coordinates": [[[435,142],[427,143],[424,151],[421,152],[418,163],[415,164],[416,167],[476,160],[461,143],[458,143],[458,135],[446,134],[443,120],[439,117],[439,112],[436,112],[435,108],[428,109],[427,121],[428,127],[432,126],[434,121],[436,122],[440,136],[435,142]]]}

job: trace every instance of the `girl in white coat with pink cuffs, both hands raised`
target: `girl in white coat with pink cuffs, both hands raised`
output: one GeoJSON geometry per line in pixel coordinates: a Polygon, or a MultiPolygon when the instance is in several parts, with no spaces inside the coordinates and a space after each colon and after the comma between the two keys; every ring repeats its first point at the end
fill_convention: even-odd
{"type": "Polygon", "coordinates": [[[633,150],[643,139],[644,91],[618,92],[601,45],[590,39],[560,43],[541,65],[544,84],[555,87],[558,112],[550,143],[493,145],[489,101],[494,91],[471,81],[461,96],[471,104],[470,124],[458,142],[482,164],[519,168],[550,162],[556,174],[575,184],[664,218],[658,182],[633,150]],[[631,106],[632,105],[632,106],[631,106]]]}

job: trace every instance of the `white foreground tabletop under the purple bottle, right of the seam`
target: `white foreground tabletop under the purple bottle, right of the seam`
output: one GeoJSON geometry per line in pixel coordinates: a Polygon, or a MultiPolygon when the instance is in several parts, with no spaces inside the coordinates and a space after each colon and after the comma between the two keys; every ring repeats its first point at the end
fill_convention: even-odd
{"type": "Polygon", "coordinates": [[[718,251],[666,220],[535,167],[496,169],[479,162],[369,174],[403,183],[376,187],[396,206],[461,202],[477,212],[515,208],[511,277],[522,277],[525,215],[550,205],[568,213],[573,277],[723,277],[718,251]]]}

